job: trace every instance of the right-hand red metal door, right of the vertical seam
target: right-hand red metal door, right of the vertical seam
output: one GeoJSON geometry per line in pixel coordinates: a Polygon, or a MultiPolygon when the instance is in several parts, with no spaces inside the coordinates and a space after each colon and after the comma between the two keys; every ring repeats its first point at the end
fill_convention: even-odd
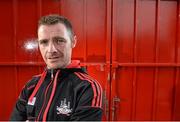
{"type": "Polygon", "coordinates": [[[115,0],[112,25],[111,120],[178,120],[179,1],[115,0]]]}

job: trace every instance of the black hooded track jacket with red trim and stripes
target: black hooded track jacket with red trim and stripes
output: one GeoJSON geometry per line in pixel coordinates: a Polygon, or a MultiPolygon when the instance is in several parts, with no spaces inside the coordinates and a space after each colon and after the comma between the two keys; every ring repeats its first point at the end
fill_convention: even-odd
{"type": "Polygon", "coordinates": [[[77,67],[46,69],[34,76],[21,91],[10,120],[101,120],[102,88],[77,67]]]}

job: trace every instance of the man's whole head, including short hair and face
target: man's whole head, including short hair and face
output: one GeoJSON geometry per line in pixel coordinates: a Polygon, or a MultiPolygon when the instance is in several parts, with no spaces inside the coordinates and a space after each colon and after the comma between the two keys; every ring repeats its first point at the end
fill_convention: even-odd
{"type": "Polygon", "coordinates": [[[38,25],[38,44],[49,69],[65,68],[76,45],[71,23],[59,15],[43,16],[38,25]]]}

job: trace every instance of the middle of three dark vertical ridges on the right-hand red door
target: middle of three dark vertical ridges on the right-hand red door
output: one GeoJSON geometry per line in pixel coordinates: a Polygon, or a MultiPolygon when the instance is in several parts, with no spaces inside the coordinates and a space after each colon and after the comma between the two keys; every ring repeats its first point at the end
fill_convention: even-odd
{"type": "MultiPolygon", "coordinates": [[[[155,63],[158,62],[158,49],[159,49],[159,43],[158,43],[158,37],[159,37],[159,3],[160,0],[156,1],[156,19],[155,19],[155,63]]],[[[154,90],[153,90],[153,101],[152,101],[152,120],[156,120],[156,105],[157,105],[157,82],[158,82],[158,67],[155,67],[154,72],[154,90]]]]}

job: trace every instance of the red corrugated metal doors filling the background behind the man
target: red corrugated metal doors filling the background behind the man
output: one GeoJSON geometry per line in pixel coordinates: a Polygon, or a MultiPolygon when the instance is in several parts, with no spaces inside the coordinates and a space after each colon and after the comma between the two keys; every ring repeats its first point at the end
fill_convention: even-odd
{"type": "Polygon", "coordinates": [[[78,37],[80,59],[104,91],[104,120],[180,120],[179,0],[0,1],[0,120],[44,63],[37,21],[61,14],[78,37]]]}

